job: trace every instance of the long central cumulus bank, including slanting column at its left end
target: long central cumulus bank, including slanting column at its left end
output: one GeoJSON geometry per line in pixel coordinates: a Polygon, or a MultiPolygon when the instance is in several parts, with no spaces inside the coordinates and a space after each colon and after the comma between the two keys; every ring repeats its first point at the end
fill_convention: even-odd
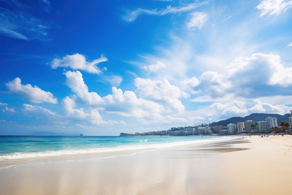
{"type": "MultiPolygon", "coordinates": [[[[157,84],[155,90],[163,90],[164,93],[175,95],[175,98],[167,98],[166,94],[159,97],[159,94],[157,94],[158,91],[155,90],[154,93],[156,94],[145,96],[149,99],[155,99],[157,101],[160,100],[161,103],[167,105],[164,106],[154,101],[143,99],[141,97],[138,98],[136,94],[132,91],[123,92],[121,89],[117,89],[116,87],[112,87],[112,94],[100,97],[96,92],[88,92],[88,87],[84,83],[82,74],[79,71],[67,71],[64,74],[67,77],[65,83],[72,90],[72,92],[76,94],[78,98],[82,99],[89,105],[103,109],[108,113],[118,114],[126,117],[136,117],[143,122],[158,122],[159,120],[173,122],[178,120],[185,120],[183,118],[172,117],[167,114],[175,110],[184,110],[184,106],[177,98],[180,96],[187,96],[187,94],[180,91],[178,87],[170,85],[167,80],[155,81],[157,84]],[[159,82],[161,84],[160,89],[159,82]],[[164,84],[166,85],[166,87],[163,87],[164,84]],[[169,105],[170,103],[173,103],[174,105],[169,105]]],[[[148,90],[145,83],[143,83],[143,80],[137,80],[137,82],[135,83],[137,84],[137,86],[139,86],[139,89],[137,89],[138,91],[142,92],[143,90],[148,90]]],[[[155,83],[152,84],[155,85],[155,83]]]]}

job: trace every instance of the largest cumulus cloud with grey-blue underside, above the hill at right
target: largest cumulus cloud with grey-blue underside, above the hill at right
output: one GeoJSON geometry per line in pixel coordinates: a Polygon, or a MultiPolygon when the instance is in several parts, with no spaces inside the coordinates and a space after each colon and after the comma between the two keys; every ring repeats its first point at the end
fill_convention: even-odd
{"type": "Polygon", "coordinates": [[[279,55],[252,54],[238,57],[226,67],[226,75],[213,71],[204,72],[199,84],[193,77],[182,84],[191,92],[201,92],[212,98],[226,95],[238,97],[260,97],[291,94],[292,67],[284,67],[279,55]],[[187,85],[188,84],[188,85],[187,85]]]}

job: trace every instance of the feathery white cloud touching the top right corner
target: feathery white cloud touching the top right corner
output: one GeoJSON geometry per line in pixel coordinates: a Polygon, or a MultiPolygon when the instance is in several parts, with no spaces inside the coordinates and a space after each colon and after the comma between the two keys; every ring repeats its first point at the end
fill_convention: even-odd
{"type": "Polygon", "coordinates": [[[291,7],[292,1],[284,0],[263,0],[258,6],[256,6],[257,9],[261,10],[260,16],[264,16],[266,14],[279,15],[281,12],[285,12],[291,7]]]}

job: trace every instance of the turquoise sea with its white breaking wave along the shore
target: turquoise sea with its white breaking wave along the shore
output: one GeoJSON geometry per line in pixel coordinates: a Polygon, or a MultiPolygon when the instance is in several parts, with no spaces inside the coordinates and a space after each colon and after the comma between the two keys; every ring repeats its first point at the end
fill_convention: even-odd
{"type": "Polygon", "coordinates": [[[220,136],[0,136],[0,161],[151,149],[230,139],[220,136]]]}

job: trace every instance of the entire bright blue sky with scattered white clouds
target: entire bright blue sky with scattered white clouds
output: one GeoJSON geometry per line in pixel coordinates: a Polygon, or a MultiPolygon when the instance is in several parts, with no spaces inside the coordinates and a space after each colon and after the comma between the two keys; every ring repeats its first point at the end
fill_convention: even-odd
{"type": "Polygon", "coordinates": [[[292,1],[0,0],[0,134],[292,110],[292,1]]]}

